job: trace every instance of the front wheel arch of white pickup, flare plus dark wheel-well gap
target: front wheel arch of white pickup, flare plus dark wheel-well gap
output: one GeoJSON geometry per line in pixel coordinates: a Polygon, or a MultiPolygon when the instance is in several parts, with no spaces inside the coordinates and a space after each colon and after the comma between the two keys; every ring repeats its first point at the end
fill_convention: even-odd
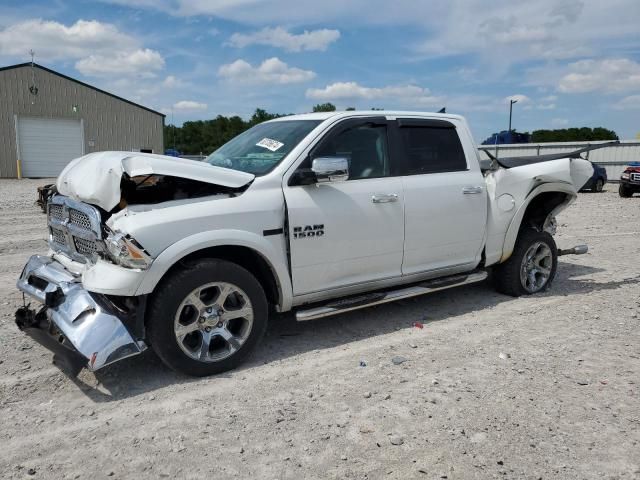
{"type": "MultiPolygon", "coordinates": [[[[267,300],[278,310],[291,308],[291,280],[286,257],[279,259],[278,249],[273,244],[250,232],[235,231],[228,236],[217,232],[217,237],[207,238],[205,234],[198,234],[164,250],[151,264],[136,295],[152,293],[160,281],[176,268],[200,258],[219,258],[236,263],[255,275],[265,289],[267,300]]],[[[284,257],[283,254],[281,256],[284,257]]]]}

